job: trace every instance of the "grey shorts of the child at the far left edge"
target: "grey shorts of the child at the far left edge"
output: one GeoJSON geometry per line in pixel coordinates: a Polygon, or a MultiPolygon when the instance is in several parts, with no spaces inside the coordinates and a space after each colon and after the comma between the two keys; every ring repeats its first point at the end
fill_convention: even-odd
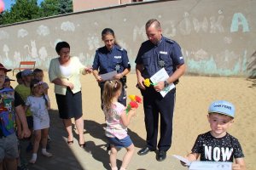
{"type": "Polygon", "coordinates": [[[0,162],[3,158],[15,159],[19,156],[16,134],[0,138],[0,162]]]}

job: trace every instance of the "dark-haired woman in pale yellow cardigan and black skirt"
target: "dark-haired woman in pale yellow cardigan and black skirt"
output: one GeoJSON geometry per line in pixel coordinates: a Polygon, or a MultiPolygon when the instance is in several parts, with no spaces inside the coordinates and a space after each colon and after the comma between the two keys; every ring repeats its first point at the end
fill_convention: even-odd
{"type": "Polygon", "coordinates": [[[79,132],[79,145],[84,147],[84,120],[79,75],[90,73],[90,68],[82,65],[79,58],[70,56],[70,46],[67,42],[58,42],[55,50],[59,57],[50,61],[49,81],[55,84],[58,110],[68,135],[67,144],[73,144],[71,118],[74,118],[79,132]]]}

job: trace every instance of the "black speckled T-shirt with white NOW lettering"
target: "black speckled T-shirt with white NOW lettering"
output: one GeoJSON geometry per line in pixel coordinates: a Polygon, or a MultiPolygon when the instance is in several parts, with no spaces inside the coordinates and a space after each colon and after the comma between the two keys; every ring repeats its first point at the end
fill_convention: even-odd
{"type": "Polygon", "coordinates": [[[233,161],[244,157],[241,145],[227,133],[223,138],[214,138],[210,132],[198,135],[192,153],[200,154],[201,161],[233,161]]]}

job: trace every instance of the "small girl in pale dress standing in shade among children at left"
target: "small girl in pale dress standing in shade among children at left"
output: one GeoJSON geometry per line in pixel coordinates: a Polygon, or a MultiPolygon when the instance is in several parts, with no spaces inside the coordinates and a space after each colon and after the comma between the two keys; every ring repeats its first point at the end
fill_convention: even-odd
{"type": "Polygon", "coordinates": [[[44,94],[44,82],[39,82],[37,79],[32,79],[30,84],[31,94],[26,98],[27,110],[30,108],[33,115],[33,130],[34,130],[34,144],[32,150],[32,158],[30,163],[37,161],[37,153],[40,141],[42,139],[42,154],[43,156],[50,157],[51,153],[46,151],[47,136],[49,130],[49,98],[44,94]]]}

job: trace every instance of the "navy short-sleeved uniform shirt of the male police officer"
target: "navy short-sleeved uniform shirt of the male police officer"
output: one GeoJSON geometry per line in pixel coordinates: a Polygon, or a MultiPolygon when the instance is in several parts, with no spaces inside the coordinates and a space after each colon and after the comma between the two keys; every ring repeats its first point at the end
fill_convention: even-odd
{"type": "Polygon", "coordinates": [[[143,42],[135,62],[137,65],[143,65],[142,76],[150,78],[163,67],[168,75],[172,75],[177,65],[184,64],[184,59],[177,42],[162,37],[157,45],[149,40],[143,42]]]}

